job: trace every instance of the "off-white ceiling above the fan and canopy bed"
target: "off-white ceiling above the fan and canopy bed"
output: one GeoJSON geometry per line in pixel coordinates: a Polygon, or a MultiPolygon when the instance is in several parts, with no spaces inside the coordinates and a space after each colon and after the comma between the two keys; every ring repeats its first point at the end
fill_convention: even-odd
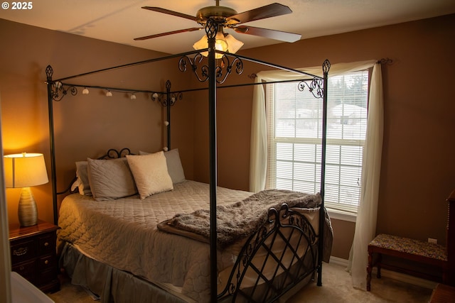
{"type": "MultiPolygon", "coordinates": [[[[274,0],[221,0],[238,13],[274,0]]],[[[245,23],[301,34],[302,39],[386,26],[455,13],[454,0],[276,0],[293,13],[245,23]]],[[[0,9],[0,18],[55,31],[84,35],[164,53],[183,53],[204,34],[193,31],[150,40],[133,38],[184,28],[198,27],[194,21],[141,9],[159,6],[195,16],[198,9],[215,6],[213,0],[36,0],[30,10],[0,9]]],[[[5,2],[3,2],[3,5],[5,2]]],[[[277,40],[233,33],[245,43],[242,49],[281,43],[277,40]]]]}

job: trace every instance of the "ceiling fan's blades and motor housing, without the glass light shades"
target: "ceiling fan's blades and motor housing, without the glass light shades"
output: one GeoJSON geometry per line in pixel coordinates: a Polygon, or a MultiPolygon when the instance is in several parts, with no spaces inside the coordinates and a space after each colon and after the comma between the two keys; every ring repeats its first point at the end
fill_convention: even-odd
{"type": "Polygon", "coordinates": [[[295,42],[300,40],[301,35],[296,33],[288,33],[284,31],[275,31],[267,28],[257,28],[253,26],[239,26],[239,24],[247,23],[250,21],[257,21],[264,18],[271,18],[276,16],[282,16],[287,13],[292,13],[288,6],[274,3],[266,6],[245,11],[243,13],[237,13],[234,9],[229,7],[220,6],[220,0],[215,0],[215,6],[207,6],[200,9],[196,16],[187,15],[186,13],[178,13],[177,11],[170,11],[168,9],[162,9],[160,7],[144,6],[142,9],[148,9],[149,11],[157,11],[159,13],[167,13],[168,15],[186,18],[189,20],[196,21],[200,26],[198,28],[186,28],[178,31],[170,31],[166,33],[159,33],[155,35],[146,35],[144,37],[134,38],[134,40],[146,40],[151,38],[158,38],[164,35],[173,35],[175,33],[185,33],[190,31],[199,31],[205,27],[205,24],[209,19],[212,19],[223,31],[223,28],[230,28],[237,33],[245,33],[248,35],[257,35],[264,38],[271,38],[274,40],[281,40],[284,42],[295,42]]]}

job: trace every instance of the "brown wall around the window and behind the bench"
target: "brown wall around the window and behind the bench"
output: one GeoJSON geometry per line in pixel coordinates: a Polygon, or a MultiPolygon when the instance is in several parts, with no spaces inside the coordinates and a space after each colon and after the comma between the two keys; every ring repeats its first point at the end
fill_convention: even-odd
{"type": "MultiPolygon", "coordinates": [[[[455,188],[453,37],[455,15],[239,53],[293,68],[320,66],[326,58],[331,63],[392,59],[392,65],[382,66],[385,129],[377,232],[445,243],[445,199],[455,188]]],[[[242,77],[259,70],[270,69],[251,66],[242,77]]],[[[220,184],[248,189],[242,174],[248,174],[250,158],[252,89],[218,97],[218,131],[225,134],[218,136],[220,184]],[[224,109],[228,102],[235,109],[224,109]]],[[[199,133],[196,125],[196,138],[199,133]]],[[[200,148],[205,146],[195,145],[195,162],[203,154],[200,148]]],[[[198,168],[195,176],[205,180],[198,168]]],[[[333,221],[333,255],[348,258],[355,224],[333,221]]]]}

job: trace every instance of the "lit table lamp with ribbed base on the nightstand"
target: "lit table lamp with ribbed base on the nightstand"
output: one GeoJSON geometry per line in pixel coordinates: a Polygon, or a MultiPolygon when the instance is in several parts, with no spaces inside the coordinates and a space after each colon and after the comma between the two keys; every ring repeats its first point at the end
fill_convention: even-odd
{"type": "Polygon", "coordinates": [[[38,223],[38,210],[31,186],[49,182],[42,153],[19,153],[4,156],[5,187],[21,188],[18,218],[21,226],[38,223]]]}

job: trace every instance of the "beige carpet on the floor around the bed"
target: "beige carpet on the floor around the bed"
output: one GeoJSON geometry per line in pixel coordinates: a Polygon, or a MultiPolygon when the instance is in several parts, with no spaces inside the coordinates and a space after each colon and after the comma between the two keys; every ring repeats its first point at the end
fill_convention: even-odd
{"type": "MultiPolygon", "coordinates": [[[[377,279],[373,276],[371,292],[352,287],[350,275],[341,265],[323,263],[322,287],[311,282],[297,292],[287,303],[427,303],[432,290],[392,280],[387,277],[377,279]]],[[[55,303],[94,303],[90,294],[82,287],[62,280],[61,290],[48,294],[55,303]]]]}

